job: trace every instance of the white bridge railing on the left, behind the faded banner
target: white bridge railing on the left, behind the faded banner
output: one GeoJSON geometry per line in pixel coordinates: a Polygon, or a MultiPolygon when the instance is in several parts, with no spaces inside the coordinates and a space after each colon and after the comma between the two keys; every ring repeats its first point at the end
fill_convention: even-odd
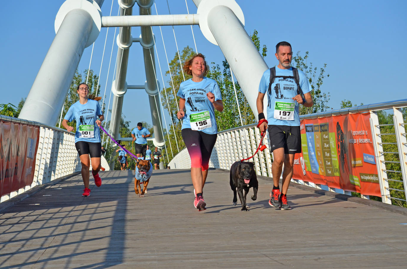
{"type": "MultiPolygon", "coordinates": [[[[39,126],[38,149],[35,153],[36,160],[33,183],[24,188],[12,191],[9,194],[2,195],[0,202],[4,202],[18,194],[24,193],[24,191],[28,191],[37,185],[81,171],[79,155],[75,148],[74,134],[64,129],[41,124],[36,121],[27,121],[4,115],[0,115],[0,120],[23,125],[39,126]]],[[[108,170],[109,165],[104,156],[102,156],[101,161],[102,167],[108,170]]]]}

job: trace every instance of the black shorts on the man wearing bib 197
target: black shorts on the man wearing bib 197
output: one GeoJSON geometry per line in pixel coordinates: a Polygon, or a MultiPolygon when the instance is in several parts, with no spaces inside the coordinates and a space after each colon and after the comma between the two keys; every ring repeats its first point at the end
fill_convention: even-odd
{"type": "Polygon", "coordinates": [[[301,152],[300,126],[269,125],[270,152],[284,148],[285,154],[301,152]]]}

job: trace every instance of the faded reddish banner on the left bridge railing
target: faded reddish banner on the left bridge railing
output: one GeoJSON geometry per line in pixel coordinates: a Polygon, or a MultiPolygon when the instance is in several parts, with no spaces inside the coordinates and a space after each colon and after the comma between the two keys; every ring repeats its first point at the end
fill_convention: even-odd
{"type": "Polygon", "coordinates": [[[39,127],[0,121],[0,196],[33,183],[39,127]]]}

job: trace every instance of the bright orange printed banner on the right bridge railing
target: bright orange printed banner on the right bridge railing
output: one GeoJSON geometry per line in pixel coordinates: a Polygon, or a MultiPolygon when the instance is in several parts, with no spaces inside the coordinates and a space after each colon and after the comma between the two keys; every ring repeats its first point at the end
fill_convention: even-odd
{"type": "Polygon", "coordinates": [[[369,119],[369,113],[303,119],[293,178],[380,197],[369,119]]]}

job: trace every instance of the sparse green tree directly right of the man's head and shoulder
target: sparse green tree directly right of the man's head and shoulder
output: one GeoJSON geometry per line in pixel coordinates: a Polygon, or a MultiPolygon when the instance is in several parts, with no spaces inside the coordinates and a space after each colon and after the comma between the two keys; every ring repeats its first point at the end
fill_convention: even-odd
{"type": "Polygon", "coordinates": [[[304,56],[301,56],[300,51],[298,51],[297,54],[293,56],[295,67],[302,70],[309,79],[312,88],[311,96],[314,101],[314,105],[311,107],[300,106],[300,115],[322,112],[329,108],[327,105],[329,101],[329,92],[324,93],[321,90],[325,76],[329,77],[329,74],[325,75],[326,63],[324,63],[324,67],[319,68],[318,71],[318,68],[313,67],[312,63],[308,64],[308,54],[309,52],[307,51],[304,56]]]}

